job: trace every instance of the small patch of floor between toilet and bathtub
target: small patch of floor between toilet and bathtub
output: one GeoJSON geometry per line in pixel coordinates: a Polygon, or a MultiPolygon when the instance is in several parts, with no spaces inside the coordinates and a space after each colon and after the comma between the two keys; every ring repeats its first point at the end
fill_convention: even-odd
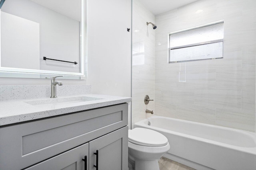
{"type": "Polygon", "coordinates": [[[160,158],[159,167],[160,170],[195,170],[194,168],[190,168],[165,157],[160,158]]]}

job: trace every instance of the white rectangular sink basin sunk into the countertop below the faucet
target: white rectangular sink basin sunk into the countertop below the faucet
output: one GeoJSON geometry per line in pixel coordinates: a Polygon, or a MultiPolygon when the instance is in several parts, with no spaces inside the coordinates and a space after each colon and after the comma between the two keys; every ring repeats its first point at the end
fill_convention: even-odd
{"type": "Polygon", "coordinates": [[[78,97],[66,97],[66,98],[49,98],[49,99],[41,99],[41,100],[31,100],[26,101],[25,103],[30,105],[42,105],[42,104],[70,104],[70,103],[78,103],[78,102],[88,102],[94,100],[102,100],[102,98],[92,98],[87,96],[78,96],[78,97]]]}

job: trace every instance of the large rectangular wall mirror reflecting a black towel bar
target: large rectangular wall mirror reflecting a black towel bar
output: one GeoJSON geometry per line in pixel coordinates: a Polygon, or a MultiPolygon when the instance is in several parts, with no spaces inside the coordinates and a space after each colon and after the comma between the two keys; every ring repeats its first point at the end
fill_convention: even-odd
{"type": "Polygon", "coordinates": [[[85,25],[84,0],[1,0],[0,76],[84,76],[85,25]]]}

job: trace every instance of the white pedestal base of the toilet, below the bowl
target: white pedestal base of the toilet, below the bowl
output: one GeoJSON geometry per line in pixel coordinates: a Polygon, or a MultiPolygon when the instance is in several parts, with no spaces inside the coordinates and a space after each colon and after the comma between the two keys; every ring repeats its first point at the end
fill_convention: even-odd
{"type": "Polygon", "coordinates": [[[160,170],[158,159],[156,160],[134,160],[129,156],[129,170],[160,170]]]}

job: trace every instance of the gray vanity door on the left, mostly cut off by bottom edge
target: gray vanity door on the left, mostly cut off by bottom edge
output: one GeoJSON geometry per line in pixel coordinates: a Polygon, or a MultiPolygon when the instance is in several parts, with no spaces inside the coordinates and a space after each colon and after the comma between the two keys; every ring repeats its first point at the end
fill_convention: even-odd
{"type": "Polygon", "coordinates": [[[88,170],[88,151],[89,143],[86,143],[24,170],[88,170]],[[86,163],[82,160],[85,156],[86,163]]]}

